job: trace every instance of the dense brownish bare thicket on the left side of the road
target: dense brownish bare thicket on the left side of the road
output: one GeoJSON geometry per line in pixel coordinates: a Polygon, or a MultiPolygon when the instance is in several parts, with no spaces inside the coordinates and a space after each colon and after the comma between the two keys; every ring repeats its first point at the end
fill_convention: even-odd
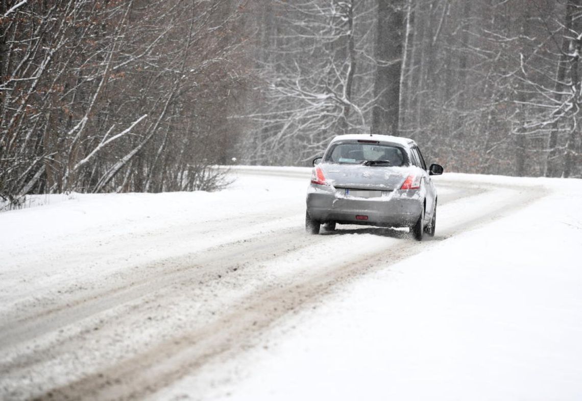
{"type": "Polygon", "coordinates": [[[0,196],[215,187],[243,6],[1,0],[0,196]]]}

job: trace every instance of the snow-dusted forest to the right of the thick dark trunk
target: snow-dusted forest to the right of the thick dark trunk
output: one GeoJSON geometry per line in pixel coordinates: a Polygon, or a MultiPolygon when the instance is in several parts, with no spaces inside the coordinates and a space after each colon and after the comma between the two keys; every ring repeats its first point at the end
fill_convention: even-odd
{"type": "Polygon", "coordinates": [[[578,176],[582,2],[411,2],[400,132],[455,171],[578,176]]]}

